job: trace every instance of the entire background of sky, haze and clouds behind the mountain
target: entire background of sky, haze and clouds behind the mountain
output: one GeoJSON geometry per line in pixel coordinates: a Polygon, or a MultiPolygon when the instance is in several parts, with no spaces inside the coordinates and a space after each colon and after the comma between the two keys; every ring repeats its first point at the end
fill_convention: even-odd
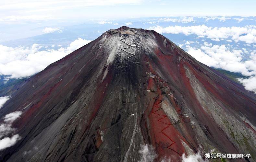
{"type": "Polygon", "coordinates": [[[155,30],[203,64],[248,76],[240,82],[256,93],[255,6],[252,0],[1,1],[0,77],[35,74],[127,26],[155,30]]]}

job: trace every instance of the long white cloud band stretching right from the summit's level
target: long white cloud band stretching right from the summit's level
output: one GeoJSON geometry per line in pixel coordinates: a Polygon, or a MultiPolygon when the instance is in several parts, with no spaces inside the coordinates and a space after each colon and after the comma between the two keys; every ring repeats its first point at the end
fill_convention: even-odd
{"type": "Polygon", "coordinates": [[[169,27],[161,27],[161,26],[153,26],[150,27],[149,30],[155,30],[158,33],[171,33],[171,34],[179,34],[182,33],[184,35],[195,34],[198,37],[206,36],[209,39],[214,41],[219,41],[219,39],[228,39],[231,38],[235,42],[244,41],[248,44],[256,43],[256,26],[248,25],[244,27],[220,27],[213,28],[207,27],[206,25],[197,25],[197,26],[169,26],[169,27]]]}

